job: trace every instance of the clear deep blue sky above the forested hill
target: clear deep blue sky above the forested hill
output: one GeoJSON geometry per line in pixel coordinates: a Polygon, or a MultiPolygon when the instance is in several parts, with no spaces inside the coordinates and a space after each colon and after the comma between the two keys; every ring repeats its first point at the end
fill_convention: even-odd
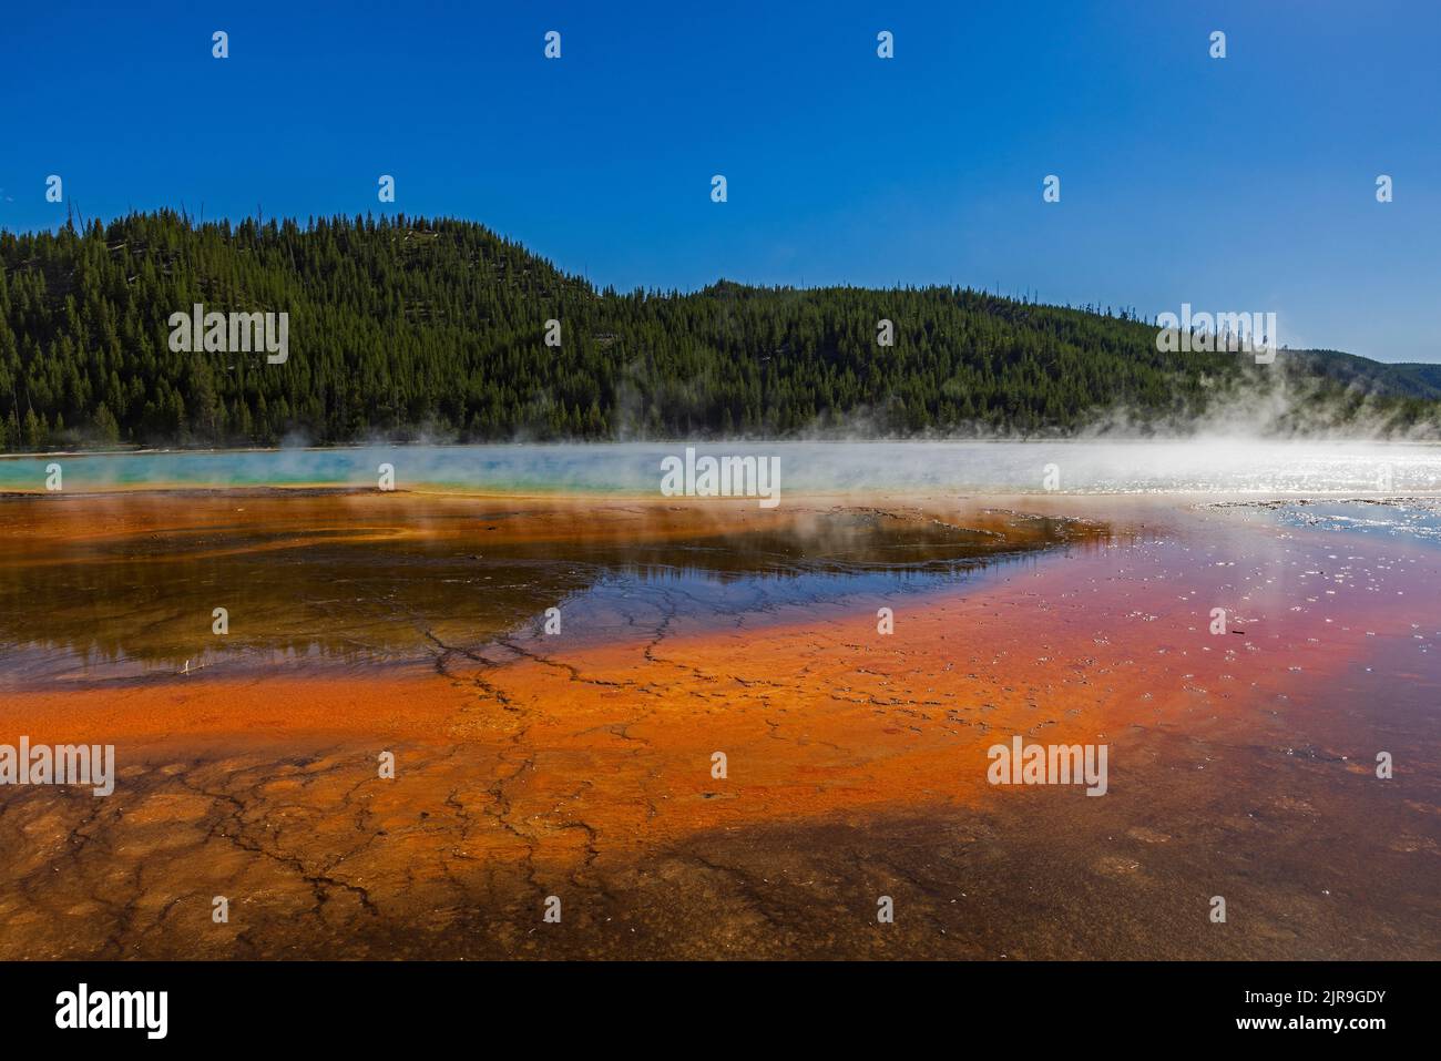
{"type": "Polygon", "coordinates": [[[620,288],[1189,301],[1275,311],[1290,346],[1441,360],[1432,0],[321,7],[6,4],[0,226],[63,221],[58,173],[86,218],[399,209],[620,288]]]}

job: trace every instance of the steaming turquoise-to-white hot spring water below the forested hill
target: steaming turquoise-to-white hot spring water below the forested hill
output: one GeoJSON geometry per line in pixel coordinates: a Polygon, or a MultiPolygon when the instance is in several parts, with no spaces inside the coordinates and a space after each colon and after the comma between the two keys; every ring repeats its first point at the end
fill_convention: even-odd
{"type": "MultiPolygon", "coordinates": [[[[166,451],[0,458],[0,490],[65,492],[324,484],[477,493],[659,496],[661,461],[684,443],[595,445],[372,445],[324,450],[166,451]]],[[[1185,441],[696,443],[697,454],[769,457],[780,493],[1270,493],[1441,492],[1441,445],[1185,441]]]]}

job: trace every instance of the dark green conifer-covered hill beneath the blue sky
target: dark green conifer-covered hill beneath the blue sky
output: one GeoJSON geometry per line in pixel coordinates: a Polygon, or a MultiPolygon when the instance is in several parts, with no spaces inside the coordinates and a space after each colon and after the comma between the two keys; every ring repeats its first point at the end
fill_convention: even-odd
{"type": "Polygon", "coordinates": [[[1236,355],[1164,355],[1130,314],[970,290],[597,291],[463,221],[131,215],[0,234],[0,265],[12,451],[1071,432],[1117,412],[1173,425],[1278,379],[1304,395],[1293,427],[1437,417],[1428,398],[1359,386],[1365,373],[1333,379],[1321,356],[1282,353],[1262,372],[1236,355]],[[288,313],[288,358],[171,352],[167,321],[195,303],[288,313]],[[893,346],[878,343],[882,319],[893,346]]]}

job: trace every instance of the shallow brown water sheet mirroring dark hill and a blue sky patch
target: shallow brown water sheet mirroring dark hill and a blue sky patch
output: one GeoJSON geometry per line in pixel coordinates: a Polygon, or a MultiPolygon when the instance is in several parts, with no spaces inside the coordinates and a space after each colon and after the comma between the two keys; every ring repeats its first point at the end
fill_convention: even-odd
{"type": "Polygon", "coordinates": [[[0,562],[3,680],[427,662],[437,644],[526,639],[552,605],[568,644],[657,623],[764,623],[1110,533],[1001,510],[728,519],[695,503],[578,519],[543,502],[344,492],[10,499],[0,526],[23,545],[0,562]],[[210,631],[216,605],[225,637],[210,631]]]}

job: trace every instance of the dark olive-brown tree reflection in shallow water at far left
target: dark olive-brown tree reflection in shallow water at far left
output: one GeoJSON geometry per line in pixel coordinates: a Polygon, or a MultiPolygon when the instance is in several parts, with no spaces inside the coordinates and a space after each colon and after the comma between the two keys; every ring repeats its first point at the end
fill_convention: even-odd
{"type": "Polygon", "coordinates": [[[499,633],[584,588],[584,567],[405,554],[287,549],[0,568],[0,640],[91,660],[173,665],[245,653],[363,659],[416,652],[435,621],[499,633]],[[212,611],[229,633],[212,633],[212,611]]]}

